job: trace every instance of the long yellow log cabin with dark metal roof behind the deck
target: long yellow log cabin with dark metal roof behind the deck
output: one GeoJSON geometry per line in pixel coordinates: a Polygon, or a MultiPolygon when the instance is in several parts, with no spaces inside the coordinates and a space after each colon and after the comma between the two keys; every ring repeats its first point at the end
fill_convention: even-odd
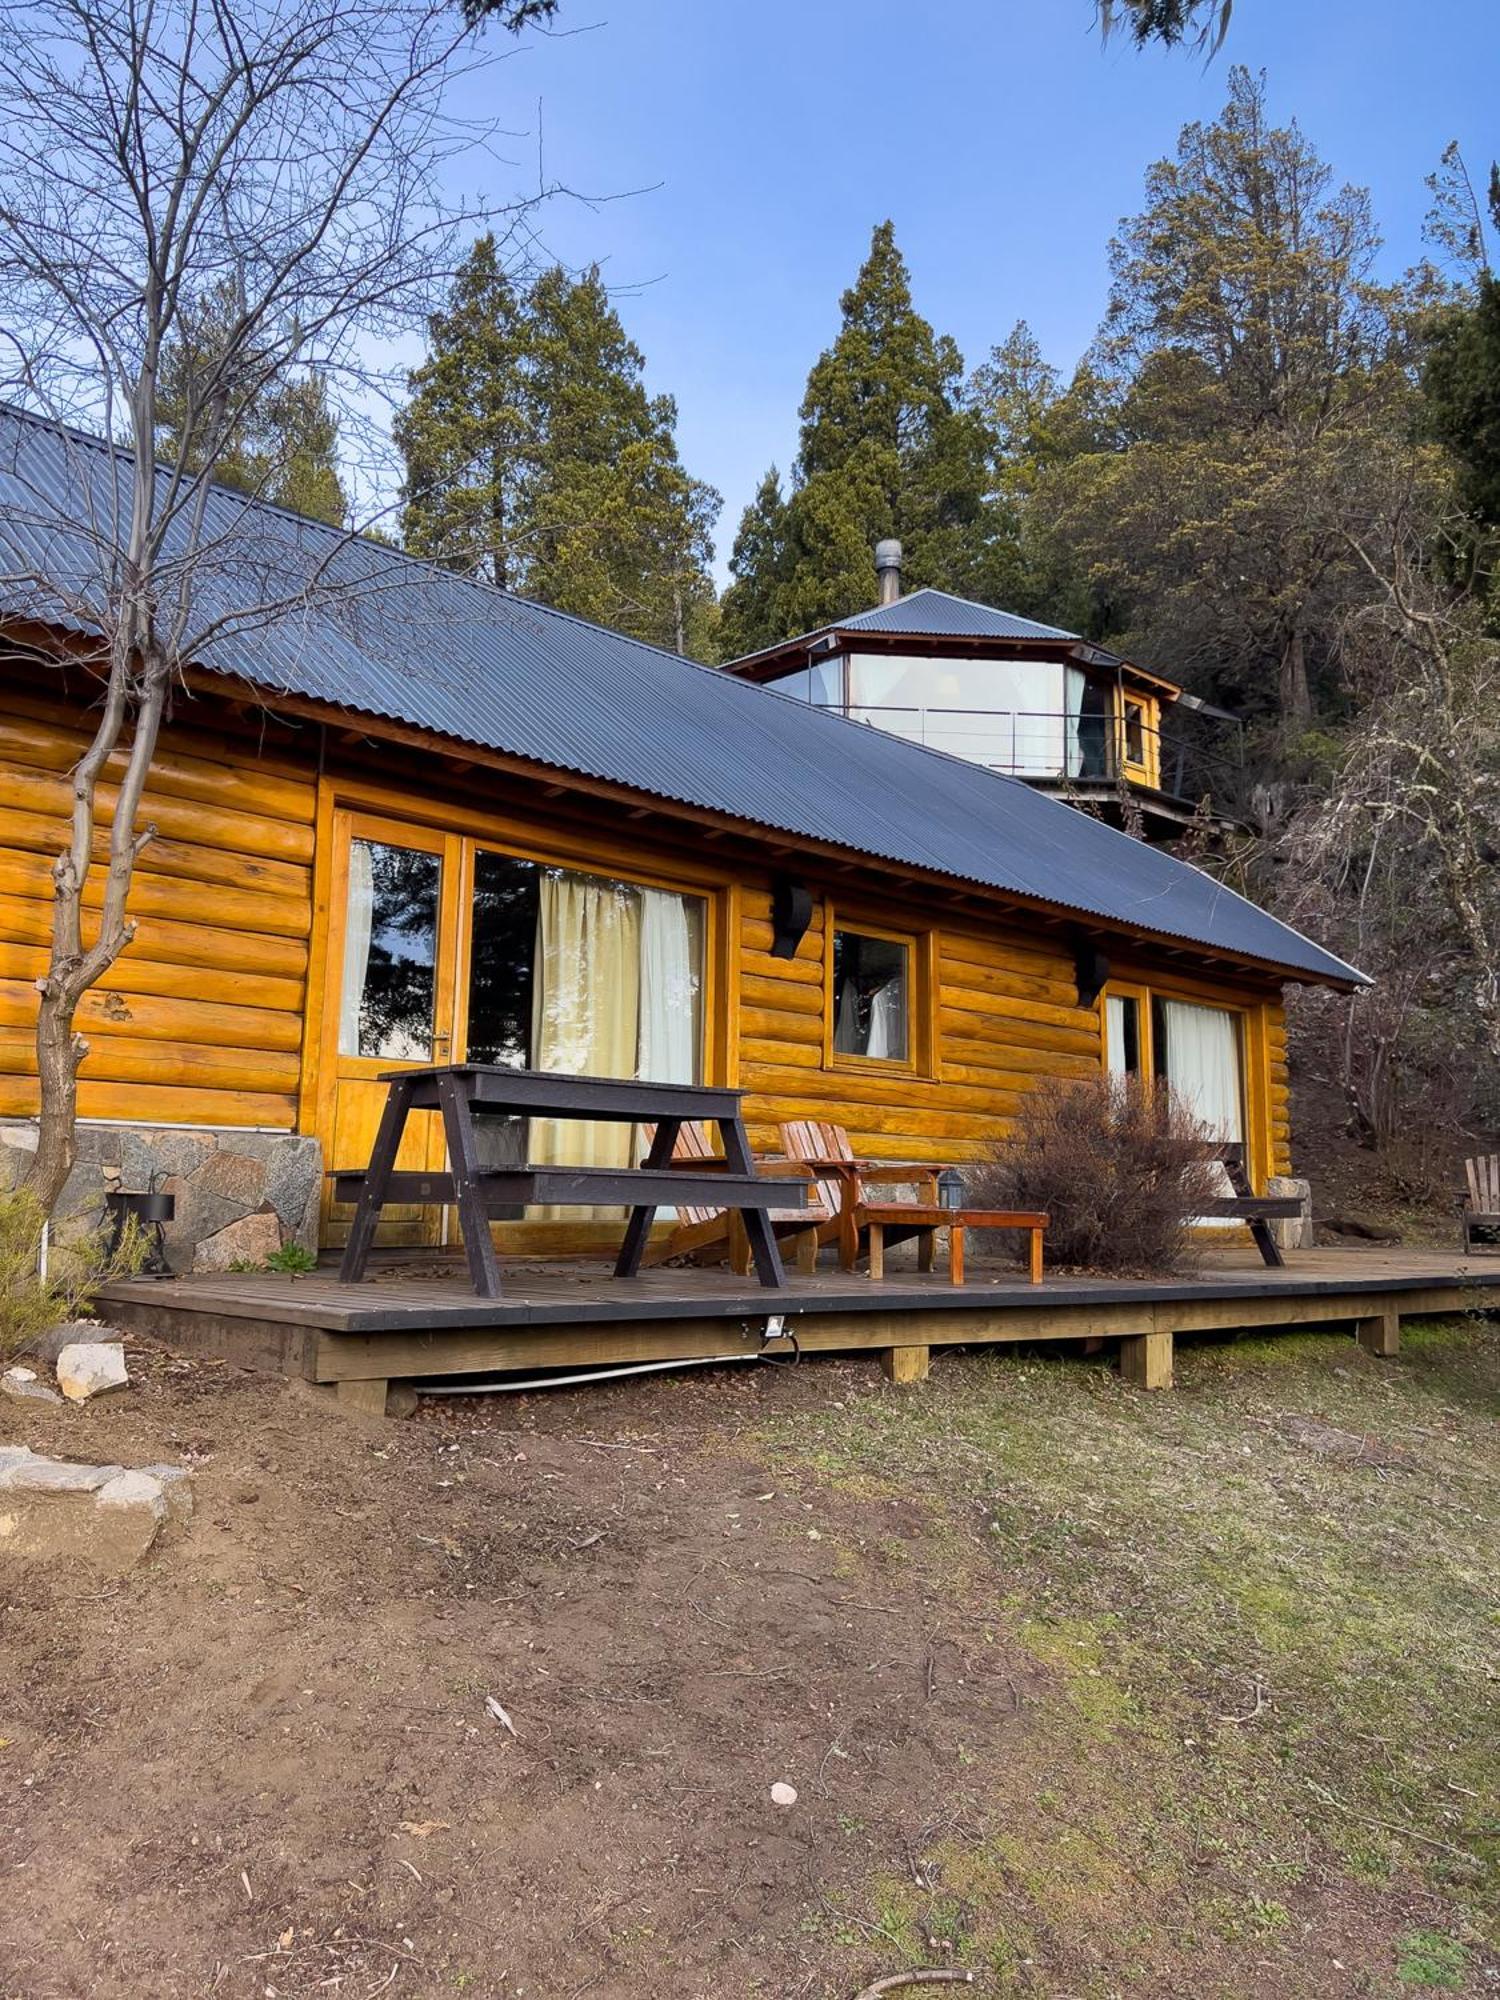
{"type": "MultiPolygon", "coordinates": [[[[34,1144],[34,980],[100,676],[86,530],[128,476],[0,412],[0,1160],[34,1144]],[[72,526],[80,524],[80,526],[72,526]]],[[[746,1092],[958,1162],[1048,1076],[1168,1076],[1290,1170],[1282,988],[1360,974],[1168,852],[976,762],[212,488],[182,586],[214,632],[154,762],[136,936],[80,1014],[80,1166],[178,1196],[178,1266],[336,1246],[404,1064],[746,1092]],[[266,606],[276,606],[274,612],[266,606]]],[[[102,800],[108,810],[108,784],[102,800]]],[[[622,1128],[548,1126],[604,1160],[622,1128]]],[[[434,1122],[404,1164],[440,1164],[434,1122]]],[[[384,1224],[434,1242],[442,1212],[384,1224]]],[[[496,1224],[540,1254],[598,1216],[496,1224]]],[[[618,1234],[618,1228],[616,1228],[618,1234]]]]}

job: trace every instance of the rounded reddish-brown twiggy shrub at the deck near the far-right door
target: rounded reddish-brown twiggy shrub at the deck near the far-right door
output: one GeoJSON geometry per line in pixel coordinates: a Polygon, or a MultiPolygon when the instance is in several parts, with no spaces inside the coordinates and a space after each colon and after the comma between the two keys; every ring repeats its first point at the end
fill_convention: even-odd
{"type": "Polygon", "coordinates": [[[966,1198],[1046,1210],[1048,1264],[1158,1276],[1194,1262],[1190,1222],[1224,1192],[1202,1148],[1202,1126],[1166,1084],[1046,1080],[1004,1146],[966,1176],[966,1198]]]}

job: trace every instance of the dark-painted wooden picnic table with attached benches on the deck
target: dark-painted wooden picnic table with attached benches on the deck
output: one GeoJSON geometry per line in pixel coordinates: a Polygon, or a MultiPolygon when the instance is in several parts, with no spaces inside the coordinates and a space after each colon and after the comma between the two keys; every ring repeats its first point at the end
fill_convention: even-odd
{"type": "Polygon", "coordinates": [[[388,1070],[378,1078],[386,1104],[370,1148],[370,1164],[334,1172],[334,1194],[354,1202],[338,1276],[358,1284],[388,1202],[442,1202],[458,1210],[470,1278],[480,1298],[500,1298],[500,1260],[490,1218],[532,1202],[580,1208],[630,1208],[616,1278],[634,1278],[658,1208],[738,1208],[756,1276],[764,1286],[786,1284],[780,1250],[766,1210],[798,1208],[806,1188],[756,1172],[740,1112],[740,1092],[708,1084],[656,1084],[630,1076],[558,1076],[502,1064],[458,1062],[422,1070],[388,1070]],[[438,1112],[448,1142],[446,1172],[396,1166],[412,1112],[438,1112]],[[656,1132],[642,1166],[484,1166],[476,1122],[482,1118],[590,1118],[612,1124],[652,1124],[656,1132]],[[672,1164],[684,1124],[718,1126],[722,1172],[672,1164]]]}

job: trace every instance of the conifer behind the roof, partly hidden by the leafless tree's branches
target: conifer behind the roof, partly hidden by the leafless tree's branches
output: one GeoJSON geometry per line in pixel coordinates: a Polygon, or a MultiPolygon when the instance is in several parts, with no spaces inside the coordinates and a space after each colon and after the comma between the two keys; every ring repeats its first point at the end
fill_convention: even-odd
{"type": "MultiPolygon", "coordinates": [[[[220,286],[186,320],[162,356],[156,450],[166,464],[180,456],[186,398],[212,380],[230,406],[228,446],[212,466],[222,486],[270,500],[338,528],[348,520],[348,496],[338,476],[338,418],[316,374],[290,372],[242,348],[234,368],[222,356],[228,328],[242,312],[238,286],[220,286]]],[[[270,344],[266,344],[270,346],[270,344]]],[[[294,346],[294,342],[290,342],[294,346]]],[[[288,342],[276,342],[278,354],[288,342]]],[[[188,470],[208,470],[190,464],[188,470]]]]}

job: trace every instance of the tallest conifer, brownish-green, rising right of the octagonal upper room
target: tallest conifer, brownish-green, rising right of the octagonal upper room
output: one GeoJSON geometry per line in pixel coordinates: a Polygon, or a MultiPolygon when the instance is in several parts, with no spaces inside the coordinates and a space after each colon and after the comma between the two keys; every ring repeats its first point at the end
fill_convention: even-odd
{"type": "Polygon", "coordinates": [[[1096,636],[1292,738],[1336,704],[1368,596],[1350,522],[1432,468],[1408,448],[1408,312],[1372,282],[1368,196],[1270,120],[1264,78],[1228,82],[1112,246],[1064,398],[1096,442],[1042,474],[1036,510],[1090,578],[1096,636]]]}

